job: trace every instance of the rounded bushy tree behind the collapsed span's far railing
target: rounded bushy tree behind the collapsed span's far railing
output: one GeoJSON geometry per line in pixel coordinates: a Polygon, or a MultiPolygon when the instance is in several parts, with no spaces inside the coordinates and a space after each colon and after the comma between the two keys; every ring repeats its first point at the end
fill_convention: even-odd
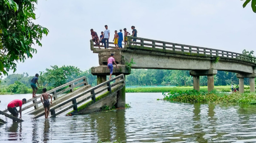
{"type": "Polygon", "coordinates": [[[48,83],[53,87],[58,87],[66,83],[68,76],[78,75],[81,70],[74,66],[51,66],[52,69],[46,69],[44,76],[48,83]]]}

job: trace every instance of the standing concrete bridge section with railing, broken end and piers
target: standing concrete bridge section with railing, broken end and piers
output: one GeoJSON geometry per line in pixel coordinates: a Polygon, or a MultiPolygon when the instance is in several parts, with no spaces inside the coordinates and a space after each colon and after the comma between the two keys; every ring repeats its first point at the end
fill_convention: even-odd
{"type": "MultiPolygon", "coordinates": [[[[110,48],[114,48],[112,44],[110,42],[110,48]]],[[[90,48],[93,53],[99,54],[100,66],[91,69],[91,73],[97,76],[97,84],[106,81],[109,75],[107,61],[111,53],[114,53],[116,63],[121,68],[117,70],[114,67],[113,75],[130,74],[131,70],[125,64],[133,59],[136,64],[131,68],[134,69],[190,70],[195,90],[200,90],[200,76],[207,76],[208,91],[211,91],[218,70],[234,72],[239,78],[240,93],[244,93],[244,78],[250,78],[250,92],[255,92],[256,58],[241,53],[132,36],[128,36],[128,45],[120,50],[99,49],[93,45],[92,40],[90,48]],[[131,39],[137,39],[137,42],[131,39]]]]}

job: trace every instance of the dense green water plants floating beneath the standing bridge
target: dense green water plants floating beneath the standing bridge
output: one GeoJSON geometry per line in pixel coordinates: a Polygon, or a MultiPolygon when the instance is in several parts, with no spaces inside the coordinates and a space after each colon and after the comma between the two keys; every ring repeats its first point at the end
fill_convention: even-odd
{"type": "Polygon", "coordinates": [[[256,93],[219,93],[213,90],[210,93],[198,92],[197,90],[171,91],[166,95],[163,93],[163,100],[183,103],[238,103],[256,104],[256,93]]]}

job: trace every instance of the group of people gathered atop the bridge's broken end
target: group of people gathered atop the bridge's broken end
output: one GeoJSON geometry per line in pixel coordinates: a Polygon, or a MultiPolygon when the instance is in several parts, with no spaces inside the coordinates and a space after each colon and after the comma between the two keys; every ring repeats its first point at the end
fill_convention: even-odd
{"type": "MultiPolygon", "coordinates": [[[[98,34],[93,31],[93,29],[91,29],[91,36],[92,36],[92,40],[93,42],[96,43],[96,45],[99,45],[99,49],[100,49],[100,43],[102,43],[102,45],[104,44],[105,49],[109,48],[109,38],[110,38],[110,30],[108,29],[108,25],[105,25],[106,30],[103,32],[101,32],[100,38],[98,36],[98,34]]],[[[132,31],[132,36],[137,37],[137,30],[135,29],[135,26],[131,26],[132,31]]],[[[123,34],[122,34],[122,29],[119,29],[119,33],[117,33],[117,30],[115,31],[114,34],[114,45],[116,47],[116,49],[122,48],[122,42],[125,42],[125,45],[127,44],[127,40],[128,40],[128,35],[131,35],[126,28],[124,28],[124,38],[123,38],[123,34]]],[[[136,39],[132,39],[134,42],[136,42],[136,39]]]]}

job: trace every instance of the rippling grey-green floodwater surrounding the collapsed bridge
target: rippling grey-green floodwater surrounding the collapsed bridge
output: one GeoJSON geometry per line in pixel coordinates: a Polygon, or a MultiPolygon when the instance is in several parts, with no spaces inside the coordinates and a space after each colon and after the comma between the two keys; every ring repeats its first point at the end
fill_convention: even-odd
{"type": "MultiPolygon", "coordinates": [[[[15,98],[0,95],[0,109],[15,98]]],[[[127,93],[130,109],[0,125],[0,143],[256,143],[256,106],[157,101],[161,93],[127,93]]],[[[4,119],[3,116],[0,118],[4,119]]]]}

